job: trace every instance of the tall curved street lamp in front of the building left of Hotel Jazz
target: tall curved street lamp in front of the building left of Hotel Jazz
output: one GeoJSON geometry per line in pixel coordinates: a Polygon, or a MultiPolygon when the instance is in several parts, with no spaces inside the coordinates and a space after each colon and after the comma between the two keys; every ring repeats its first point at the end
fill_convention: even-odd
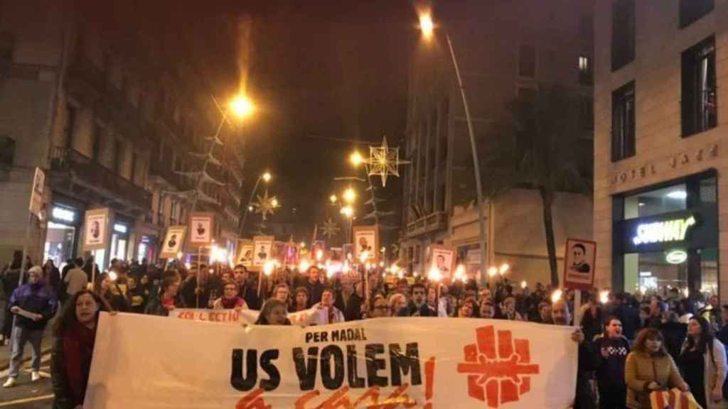
{"type": "MultiPolygon", "coordinates": [[[[432,31],[435,29],[435,25],[432,23],[432,17],[427,14],[423,14],[419,17],[420,29],[424,33],[425,37],[432,35],[432,31]]],[[[470,149],[472,151],[472,164],[475,168],[475,194],[478,200],[478,225],[480,226],[480,284],[486,285],[488,277],[486,272],[483,270],[483,266],[486,266],[487,254],[486,254],[486,222],[483,218],[483,185],[480,183],[480,161],[478,160],[478,150],[475,146],[475,133],[472,130],[472,119],[470,119],[470,108],[467,105],[467,97],[465,96],[465,88],[462,85],[462,77],[460,76],[460,68],[455,57],[455,50],[453,49],[453,43],[450,39],[450,34],[445,33],[448,41],[448,48],[450,49],[450,56],[453,60],[453,66],[455,68],[455,76],[457,78],[458,88],[460,95],[462,96],[462,105],[465,109],[465,119],[467,121],[467,133],[470,136],[470,149]]]]}

